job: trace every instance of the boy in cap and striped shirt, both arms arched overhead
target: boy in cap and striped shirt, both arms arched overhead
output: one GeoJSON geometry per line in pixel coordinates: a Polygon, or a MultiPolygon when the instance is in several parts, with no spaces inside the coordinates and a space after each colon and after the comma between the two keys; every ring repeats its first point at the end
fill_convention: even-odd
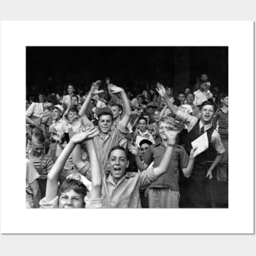
{"type": "MultiPolygon", "coordinates": [[[[88,127],[88,125],[93,125],[92,122],[89,121],[86,115],[86,111],[92,97],[102,92],[98,90],[100,83],[100,81],[92,83],[92,88],[88,93],[88,97],[84,101],[83,106],[79,111],[79,115],[81,116],[84,127],[88,127]]],[[[108,155],[110,149],[113,146],[119,145],[119,141],[121,141],[128,134],[127,125],[132,114],[128,102],[128,97],[126,96],[124,89],[110,84],[109,90],[111,93],[120,93],[124,101],[124,116],[119,121],[119,124],[117,124],[117,127],[111,129],[113,124],[113,114],[110,108],[102,108],[99,109],[97,112],[98,127],[100,133],[96,137],[93,137],[93,143],[100,161],[101,170],[104,170],[105,172],[109,172],[108,155]]]]}

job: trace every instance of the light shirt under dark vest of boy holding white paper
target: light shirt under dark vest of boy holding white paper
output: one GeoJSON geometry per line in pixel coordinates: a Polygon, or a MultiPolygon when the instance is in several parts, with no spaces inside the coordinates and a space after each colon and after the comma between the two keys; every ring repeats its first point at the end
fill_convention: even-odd
{"type": "MultiPolygon", "coordinates": [[[[181,121],[183,124],[186,124],[188,132],[191,131],[191,129],[195,126],[195,124],[198,121],[198,119],[195,116],[187,115],[186,113],[180,110],[177,110],[176,119],[178,121],[181,121]]],[[[200,129],[204,126],[204,132],[206,132],[207,130],[209,130],[209,128],[212,127],[212,124],[204,125],[200,120],[199,126],[200,126],[200,129]]],[[[216,130],[213,131],[211,141],[213,142],[213,147],[215,148],[218,154],[223,154],[225,152],[225,148],[222,145],[221,137],[216,130]]]]}

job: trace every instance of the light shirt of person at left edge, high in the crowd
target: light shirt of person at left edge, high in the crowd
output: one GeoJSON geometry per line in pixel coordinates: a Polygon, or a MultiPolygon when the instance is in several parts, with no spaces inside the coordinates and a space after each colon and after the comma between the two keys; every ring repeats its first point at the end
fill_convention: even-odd
{"type": "Polygon", "coordinates": [[[52,112],[45,109],[43,103],[33,102],[26,110],[26,116],[33,119],[37,124],[46,124],[51,115],[52,112]]]}

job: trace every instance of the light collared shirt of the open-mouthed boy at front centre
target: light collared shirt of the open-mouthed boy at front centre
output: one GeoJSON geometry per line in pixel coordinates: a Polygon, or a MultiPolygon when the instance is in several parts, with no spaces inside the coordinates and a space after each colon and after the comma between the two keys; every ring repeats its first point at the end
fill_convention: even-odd
{"type": "Polygon", "coordinates": [[[111,174],[102,172],[102,177],[103,208],[141,208],[140,188],[157,180],[154,168],[141,173],[126,173],[117,184],[111,174]]]}

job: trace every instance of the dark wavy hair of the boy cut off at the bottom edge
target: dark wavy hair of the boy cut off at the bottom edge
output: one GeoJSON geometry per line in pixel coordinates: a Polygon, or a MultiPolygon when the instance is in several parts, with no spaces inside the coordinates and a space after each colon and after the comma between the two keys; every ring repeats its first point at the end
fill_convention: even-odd
{"type": "Polygon", "coordinates": [[[79,182],[78,180],[69,178],[63,182],[59,188],[58,195],[61,196],[62,193],[65,191],[71,191],[78,193],[83,198],[85,195],[88,194],[88,189],[86,186],[83,185],[82,182],[79,182]]]}

